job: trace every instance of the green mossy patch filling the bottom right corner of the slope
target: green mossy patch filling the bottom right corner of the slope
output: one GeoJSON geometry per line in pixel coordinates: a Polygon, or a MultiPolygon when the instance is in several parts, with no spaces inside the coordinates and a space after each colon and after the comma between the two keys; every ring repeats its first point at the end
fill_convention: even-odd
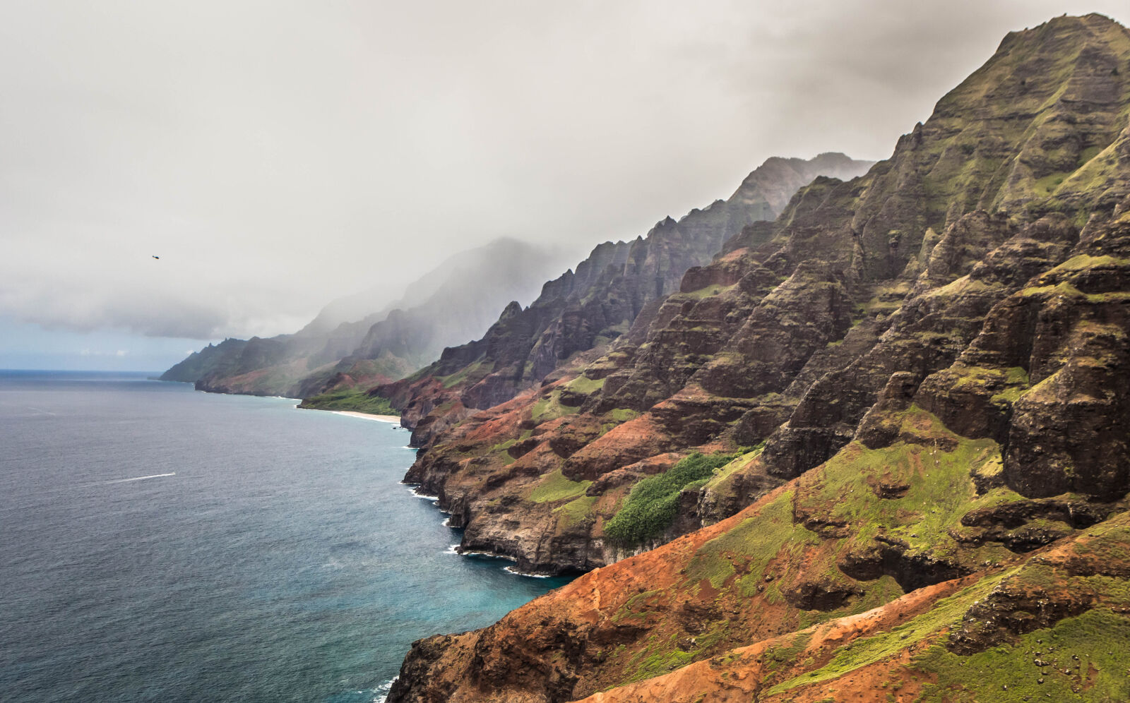
{"type": "Polygon", "coordinates": [[[1015,645],[1003,644],[968,657],[935,644],[913,660],[915,668],[936,677],[919,701],[1130,701],[1127,642],[1130,618],[1098,608],[1028,633],[1015,645]],[[1040,666],[1037,660],[1046,666],[1040,666]]]}

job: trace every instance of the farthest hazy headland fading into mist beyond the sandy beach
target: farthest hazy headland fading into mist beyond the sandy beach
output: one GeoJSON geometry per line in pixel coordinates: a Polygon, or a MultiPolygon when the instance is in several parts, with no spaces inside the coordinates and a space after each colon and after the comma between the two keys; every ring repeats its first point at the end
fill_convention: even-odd
{"type": "Polygon", "coordinates": [[[355,296],[331,303],[294,335],[229,339],[191,355],[162,375],[198,390],[307,398],[403,377],[447,345],[483,333],[498,309],[529,300],[557,255],[516,240],[457,254],[411,284],[400,302],[355,296]],[[342,314],[377,309],[356,321],[342,314]]]}

